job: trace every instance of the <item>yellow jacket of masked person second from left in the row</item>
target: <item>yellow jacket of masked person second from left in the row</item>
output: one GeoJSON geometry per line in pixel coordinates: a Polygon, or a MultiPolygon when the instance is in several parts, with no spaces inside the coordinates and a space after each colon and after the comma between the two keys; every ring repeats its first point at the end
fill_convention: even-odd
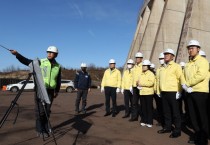
{"type": "Polygon", "coordinates": [[[122,77],[122,85],[121,89],[124,90],[130,90],[130,87],[132,87],[133,84],[133,73],[132,69],[127,69],[124,71],[123,77],[122,77]]]}

